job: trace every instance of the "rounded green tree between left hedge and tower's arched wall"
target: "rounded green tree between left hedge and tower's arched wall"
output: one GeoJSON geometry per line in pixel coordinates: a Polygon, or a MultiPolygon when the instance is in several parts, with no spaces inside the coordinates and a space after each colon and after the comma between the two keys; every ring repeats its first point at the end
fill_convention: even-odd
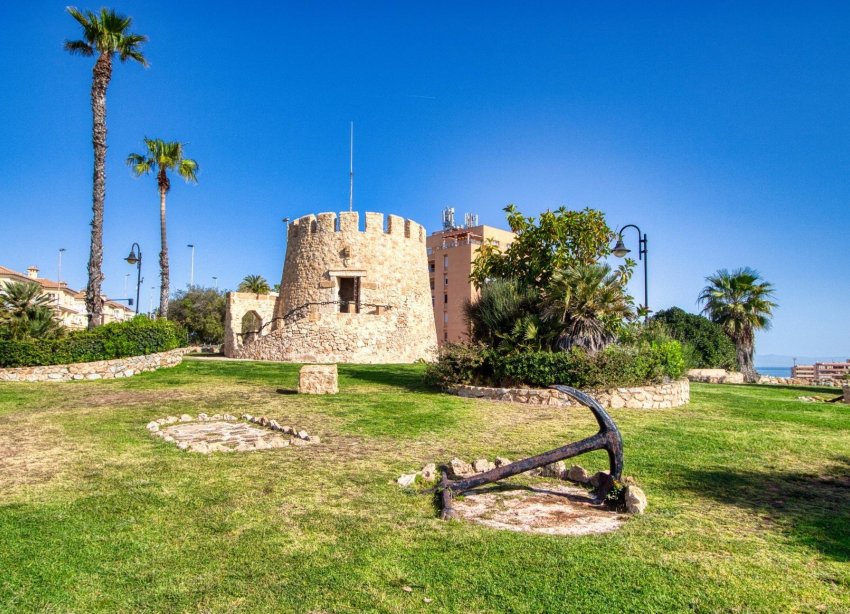
{"type": "Polygon", "coordinates": [[[186,329],[190,343],[222,343],[227,301],[214,288],[178,290],[168,303],[168,319],[186,329]]]}

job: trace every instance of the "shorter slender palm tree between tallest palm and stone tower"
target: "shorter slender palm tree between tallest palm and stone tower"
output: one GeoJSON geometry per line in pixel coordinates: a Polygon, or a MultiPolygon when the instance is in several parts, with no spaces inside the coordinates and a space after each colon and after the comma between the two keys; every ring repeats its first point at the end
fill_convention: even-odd
{"type": "Polygon", "coordinates": [[[168,241],[165,233],[165,195],[171,189],[168,171],[176,171],[187,182],[198,182],[198,163],[183,157],[183,143],[145,138],[144,154],[130,154],[127,165],[137,177],[156,172],[156,185],[159,188],[159,234],[161,248],[159,252],[159,312],[165,317],[168,313],[168,241]]]}

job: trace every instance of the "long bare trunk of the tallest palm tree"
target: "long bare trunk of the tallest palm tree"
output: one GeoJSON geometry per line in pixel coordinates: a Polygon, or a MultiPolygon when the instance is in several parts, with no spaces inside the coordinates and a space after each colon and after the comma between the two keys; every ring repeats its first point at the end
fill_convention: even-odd
{"type": "Polygon", "coordinates": [[[92,182],[91,251],[86,311],[89,329],[103,324],[103,204],[106,200],[106,88],[112,78],[112,56],[101,53],[92,70],[91,108],[94,176],[92,182]]]}

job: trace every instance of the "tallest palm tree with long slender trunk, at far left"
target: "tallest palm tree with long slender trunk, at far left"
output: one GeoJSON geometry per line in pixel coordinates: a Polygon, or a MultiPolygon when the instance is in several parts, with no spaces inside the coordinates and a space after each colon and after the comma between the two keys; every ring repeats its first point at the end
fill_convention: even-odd
{"type": "Polygon", "coordinates": [[[100,286],[103,282],[103,203],[106,199],[106,88],[112,79],[112,58],[115,54],[118,54],[121,62],[135,60],[142,66],[147,66],[141,48],[148,39],[140,34],[129,33],[132,19],[119,15],[114,10],[104,8],[100,9],[100,13],[82,13],[74,7],[68,7],[67,11],[82,26],[83,38],[66,40],[66,51],[85,57],[97,54],[91,87],[94,181],[89,281],[86,286],[89,328],[94,328],[103,323],[100,286]]]}

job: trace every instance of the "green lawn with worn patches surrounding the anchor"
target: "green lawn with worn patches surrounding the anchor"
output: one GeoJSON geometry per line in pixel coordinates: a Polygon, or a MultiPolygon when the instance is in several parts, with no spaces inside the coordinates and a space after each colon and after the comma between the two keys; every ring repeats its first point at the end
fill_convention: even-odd
{"type": "MultiPolygon", "coordinates": [[[[694,385],[684,408],[615,410],[647,513],[549,537],[441,522],[394,480],[563,445],[595,430],[590,412],[438,394],[419,366],[341,366],[339,395],[305,398],[286,394],[297,373],[187,360],[0,384],[0,610],[850,611],[846,405],[694,385]],[[201,411],[322,444],[202,456],[144,428],[201,411]]],[[[578,462],[602,469],[605,453],[578,462]]]]}

